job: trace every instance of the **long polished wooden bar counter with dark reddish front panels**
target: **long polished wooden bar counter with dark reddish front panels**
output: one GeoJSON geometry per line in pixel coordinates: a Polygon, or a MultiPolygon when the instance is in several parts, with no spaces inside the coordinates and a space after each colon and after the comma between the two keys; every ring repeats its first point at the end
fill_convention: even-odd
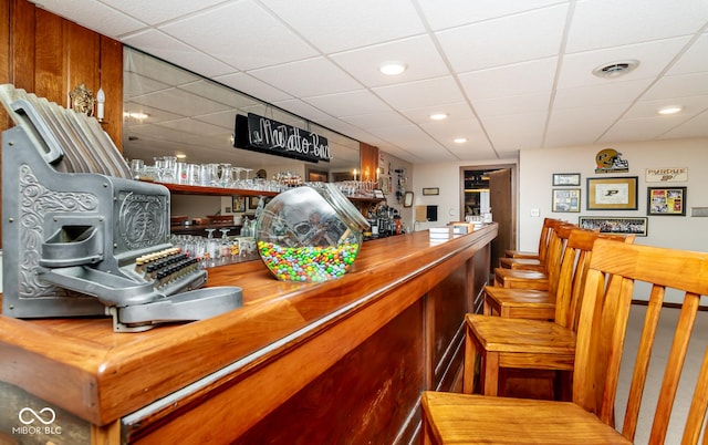
{"type": "Polygon", "coordinates": [[[20,442],[9,404],[34,403],[55,411],[56,444],[415,441],[420,392],[459,382],[496,236],[367,241],[323,283],[278,281],[260,261],[209,269],[208,286],[242,288],[242,308],[142,333],[0,315],[0,439],[20,442]]]}

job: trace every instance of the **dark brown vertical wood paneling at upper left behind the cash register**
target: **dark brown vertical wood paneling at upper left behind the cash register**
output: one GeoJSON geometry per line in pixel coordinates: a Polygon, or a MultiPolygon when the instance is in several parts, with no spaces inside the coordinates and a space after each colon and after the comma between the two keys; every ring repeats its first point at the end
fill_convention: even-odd
{"type": "MultiPolygon", "coordinates": [[[[27,0],[0,1],[0,83],[69,107],[69,93],[81,83],[106,94],[105,123],[123,146],[123,45],[27,0]]],[[[0,132],[12,121],[0,107],[0,132]]]]}

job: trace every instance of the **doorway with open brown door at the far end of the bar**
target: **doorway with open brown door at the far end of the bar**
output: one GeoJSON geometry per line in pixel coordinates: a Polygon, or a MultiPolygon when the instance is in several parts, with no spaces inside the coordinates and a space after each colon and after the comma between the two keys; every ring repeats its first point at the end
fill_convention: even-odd
{"type": "Polygon", "coordinates": [[[516,164],[460,167],[460,215],[480,215],[491,209],[492,220],[499,225],[499,234],[491,242],[491,269],[507,249],[516,249],[516,164]]]}

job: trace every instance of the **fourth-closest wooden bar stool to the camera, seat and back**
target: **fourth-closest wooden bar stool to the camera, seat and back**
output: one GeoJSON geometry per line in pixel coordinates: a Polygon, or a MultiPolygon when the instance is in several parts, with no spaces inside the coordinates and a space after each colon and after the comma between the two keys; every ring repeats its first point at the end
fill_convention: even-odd
{"type": "Polygon", "coordinates": [[[555,235],[552,236],[551,242],[549,244],[543,271],[514,270],[498,267],[494,268],[494,286],[509,289],[549,290],[552,279],[551,275],[559,272],[568,237],[574,228],[577,228],[577,226],[562,224],[552,229],[555,235]]]}

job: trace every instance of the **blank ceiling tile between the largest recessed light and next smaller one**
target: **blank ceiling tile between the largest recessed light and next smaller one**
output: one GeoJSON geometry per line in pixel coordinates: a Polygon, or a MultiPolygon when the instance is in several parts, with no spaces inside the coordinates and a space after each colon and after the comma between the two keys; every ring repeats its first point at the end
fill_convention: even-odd
{"type": "Polygon", "coordinates": [[[398,110],[441,106],[460,100],[460,89],[451,76],[377,86],[372,90],[398,110]]]}

